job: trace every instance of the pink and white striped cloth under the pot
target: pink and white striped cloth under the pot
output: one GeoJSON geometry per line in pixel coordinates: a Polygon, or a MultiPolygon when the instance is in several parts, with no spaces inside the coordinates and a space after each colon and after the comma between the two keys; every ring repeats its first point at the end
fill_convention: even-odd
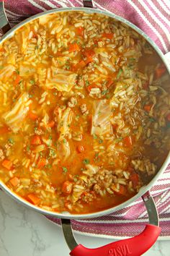
{"type": "MultiPolygon", "coordinates": [[[[94,8],[113,12],[140,27],[166,54],[170,51],[169,0],[95,0],[94,8]]],[[[6,14],[11,25],[33,14],[61,7],[83,7],[82,0],[6,0],[6,14]]],[[[151,189],[160,218],[161,238],[170,239],[170,165],[151,189]]],[[[56,218],[50,218],[60,223],[56,218]]],[[[121,238],[135,236],[148,222],[141,199],[108,216],[72,221],[73,229],[91,236],[121,238]]]]}

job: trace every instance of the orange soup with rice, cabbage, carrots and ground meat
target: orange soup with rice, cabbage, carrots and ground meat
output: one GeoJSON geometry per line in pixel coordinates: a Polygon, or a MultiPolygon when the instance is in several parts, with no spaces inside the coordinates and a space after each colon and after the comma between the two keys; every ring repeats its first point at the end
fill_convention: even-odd
{"type": "Polygon", "coordinates": [[[133,197],[169,152],[169,74],[130,27],[60,12],[0,46],[0,179],[45,210],[133,197]]]}

